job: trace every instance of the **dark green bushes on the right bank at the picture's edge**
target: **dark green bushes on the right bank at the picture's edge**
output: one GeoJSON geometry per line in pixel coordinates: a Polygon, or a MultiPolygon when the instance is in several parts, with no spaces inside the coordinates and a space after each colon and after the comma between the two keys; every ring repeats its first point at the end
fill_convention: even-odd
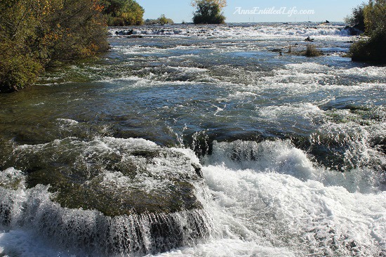
{"type": "Polygon", "coordinates": [[[366,38],[352,44],[350,53],[354,61],[371,61],[386,64],[386,0],[370,0],[354,9],[352,20],[363,19],[366,38]],[[363,9],[361,12],[356,10],[363,9]],[[363,13],[363,15],[361,14],[363,13]]]}

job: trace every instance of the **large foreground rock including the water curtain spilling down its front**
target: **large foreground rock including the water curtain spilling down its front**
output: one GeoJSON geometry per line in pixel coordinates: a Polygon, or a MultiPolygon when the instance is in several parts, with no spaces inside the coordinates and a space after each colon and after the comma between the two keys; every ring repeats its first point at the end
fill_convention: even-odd
{"type": "Polygon", "coordinates": [[[7,229],[27,228],[79,256],[142,256],[211,233],[191,150],[119,138],[14,147],[2,165],[17,169],[0,170],[7,229]]]}

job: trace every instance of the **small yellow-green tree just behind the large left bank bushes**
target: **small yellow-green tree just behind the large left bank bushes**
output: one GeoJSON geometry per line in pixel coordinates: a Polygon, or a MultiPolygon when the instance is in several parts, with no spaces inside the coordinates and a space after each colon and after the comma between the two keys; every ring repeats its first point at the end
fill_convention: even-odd
{"type": "Polygon", "coordinates": [[[141,25],[145,10],[134,0],[105,0],[109,26],[141,25]]]}

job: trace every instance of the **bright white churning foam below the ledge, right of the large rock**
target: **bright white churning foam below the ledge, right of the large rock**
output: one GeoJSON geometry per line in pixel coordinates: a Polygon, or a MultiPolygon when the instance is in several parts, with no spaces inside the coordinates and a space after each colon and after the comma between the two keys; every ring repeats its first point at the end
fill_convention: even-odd
{"type": "MultiPolygon", "coordinates": [[[[300,177],[303,169],[297,169],[300,177]]],[[[385,253],[385,192],[350,193],[315,180],[225,166],[207,166],[204,176],[213,194],[210,208],[227,235],[286,247],[295,256],[385,253]]]]}

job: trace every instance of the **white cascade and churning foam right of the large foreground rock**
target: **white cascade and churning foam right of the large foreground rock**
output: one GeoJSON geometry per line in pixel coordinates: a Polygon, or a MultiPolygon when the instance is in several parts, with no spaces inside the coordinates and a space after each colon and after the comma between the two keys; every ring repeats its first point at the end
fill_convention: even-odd
{"type": "Polygon", "coordinates": [[[319,167],[288,141],[213,148],[203,172],[212,196],[205,208],[213,214],[215,234],[157,256],[386,253],[386,192],[363,181],[367,193],[357,192],[350,175],[319,167]]]}

